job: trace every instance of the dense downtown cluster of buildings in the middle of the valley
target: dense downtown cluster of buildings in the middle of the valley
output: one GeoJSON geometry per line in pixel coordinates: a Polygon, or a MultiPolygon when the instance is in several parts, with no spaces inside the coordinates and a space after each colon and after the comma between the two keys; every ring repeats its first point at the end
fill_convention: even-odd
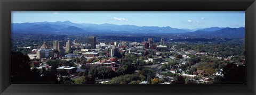
{"type": "Polygon", "coordinates": [[[28,56],[33,58],[77,58],[79,56],[86,57],[98,57],[101,52],[105,52],[108,57],[115,57],[120,53],[132,54],[136,56],[147,55],[147,50],[154,49],[158,51],[168,51],[169,48],[164,46],[164,39],[161,39],[160,45],[156,45],[153,42],[153,38],[148,38],[148,41],[143,42],[110,42],[106,44],[100,42],[97,45],[96,37],[87,37],[87,44],[77,44],[76,40],[71,44],[70,40],[66,42],[66,46],[63,45],[62,41],[54,40],[53,47],[47,46],[46,42],[36,49],[32,50],[28,56]],[[79,48],[79,49],[78,49],[79,48]],[[76,53],[69,53],[70,50],[77,49],[76,53]],[[66,55],[65,55],[66,51],[66,55]]]}

